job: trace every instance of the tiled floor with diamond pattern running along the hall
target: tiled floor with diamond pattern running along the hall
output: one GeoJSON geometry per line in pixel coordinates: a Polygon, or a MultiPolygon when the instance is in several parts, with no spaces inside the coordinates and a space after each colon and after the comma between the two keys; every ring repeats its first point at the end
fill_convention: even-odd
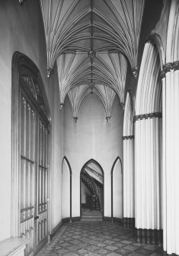
{"type": "Polygon", "coordinates": [[[164,255],[157,245],[139,245],[133,239],[133,230],[119,223],[72,222],[62,225],[53,241],[37,256],[97,256],[164,255]]]}

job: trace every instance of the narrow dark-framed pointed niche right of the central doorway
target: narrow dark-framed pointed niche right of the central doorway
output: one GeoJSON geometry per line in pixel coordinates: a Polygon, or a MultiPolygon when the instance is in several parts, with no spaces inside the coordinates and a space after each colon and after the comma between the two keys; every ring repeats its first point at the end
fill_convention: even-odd
{"type": "Polygon", "coordinates": [[[120,157],[113,163],[111,170],[111,219],[123,218],[123,169],[120,157]]]}

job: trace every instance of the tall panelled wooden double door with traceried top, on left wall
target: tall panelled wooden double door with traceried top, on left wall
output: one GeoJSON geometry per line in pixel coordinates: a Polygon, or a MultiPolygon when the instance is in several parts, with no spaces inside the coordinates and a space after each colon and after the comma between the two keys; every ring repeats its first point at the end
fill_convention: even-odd
{"type": "MultiPolygon", "coordinates": [[[[24,75],[23,73],[20,92],[19,197],[21,202],[20,235],[22,238],[29,239],[25,255],[33,255],[38,251],[46,242],[48,233],[49,132],[43,108],[40,108],[38,104],[39,96],[37,96],[36,89],[34,78],[30,74],[24,75]]],[[[40,100],[42,101],[42,99],[40,100]]]]}

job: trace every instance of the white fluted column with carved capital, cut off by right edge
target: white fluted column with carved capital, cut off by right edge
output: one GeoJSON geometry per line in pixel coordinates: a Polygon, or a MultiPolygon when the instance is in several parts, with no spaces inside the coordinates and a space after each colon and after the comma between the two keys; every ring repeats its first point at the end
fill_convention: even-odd
{"type": "Polygon", "coordinates": [[[165,64],[161,78],[164,250],[179,254],[179,60],[165,64]]]}

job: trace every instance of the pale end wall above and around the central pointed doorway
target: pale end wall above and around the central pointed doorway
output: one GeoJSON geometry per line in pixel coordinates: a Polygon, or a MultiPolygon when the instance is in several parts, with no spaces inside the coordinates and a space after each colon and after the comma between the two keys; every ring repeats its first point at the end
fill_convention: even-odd
{"type": "Polygon", "coordinates": [[[116,98],[110,123],[97,99],[87,99],[72,119],[68,97],[64,106],[64,151],[72,167],[72,217],[80,215],[80,171],[93,158],[104,170],[104,216],[111,215],[110,172],[117,156],[123,159],[123,112],[116,98]]]}

